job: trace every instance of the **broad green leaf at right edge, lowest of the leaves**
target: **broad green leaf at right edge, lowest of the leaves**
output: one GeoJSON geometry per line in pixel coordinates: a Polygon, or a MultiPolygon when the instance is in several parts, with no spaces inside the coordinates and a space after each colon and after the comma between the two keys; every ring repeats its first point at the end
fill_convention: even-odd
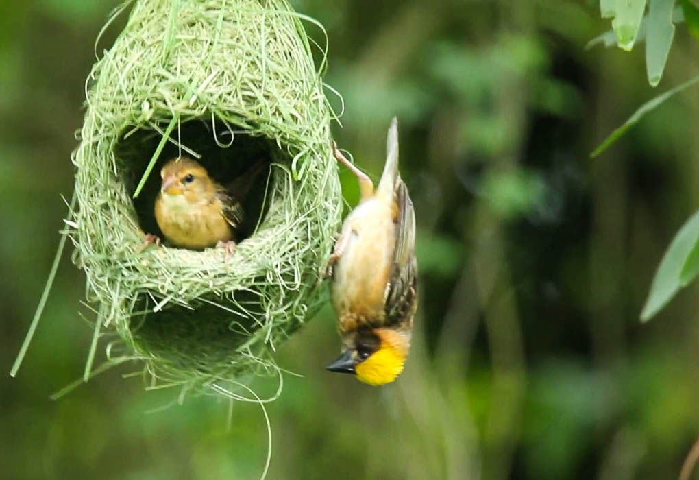
{"type": "Polygon", "coordinates": [[[670,302],[680,288],[686,283],[682,282],[682,271],[686,260],[696,246],[699,239],[699,211],[694,213],[687,222],[682,225],[679,232],[672,239],[672,243],[663,255],[660,267],[653,278],[651,291],[646,299],[646,304],[641,312],[641,321],[647,322],[658,311],[670,302]]]}

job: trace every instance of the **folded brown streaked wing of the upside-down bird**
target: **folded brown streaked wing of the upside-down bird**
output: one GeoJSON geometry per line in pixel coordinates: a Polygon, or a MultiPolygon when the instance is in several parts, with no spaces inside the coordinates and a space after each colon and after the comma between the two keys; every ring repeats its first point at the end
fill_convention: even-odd
{"type": "Polygon", "coordinates": [[[417,262],[415,260],[415,210],[408,188],[396,180],[396,248],[386,297],[386,324],[412,323],[417,306],[417,262]]]}

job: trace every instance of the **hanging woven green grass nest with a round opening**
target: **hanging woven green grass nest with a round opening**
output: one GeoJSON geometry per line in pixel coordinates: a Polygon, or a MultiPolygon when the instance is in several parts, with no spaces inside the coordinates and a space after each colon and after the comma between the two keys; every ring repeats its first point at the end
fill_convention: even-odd
{"type": "Polygon", "coordinates": [[[99,305],[89,363],[116,331],[110,362],[145,360],[159,384],[276,374],[275,347],[324,299],[342,200],[303,18],[285,0],[140,0],[94,66],[70,232],[99,305]],[[159,170],[178,155],[220,183],[267,164],[227,261],[215,248],[141,251],[159,234],[159,170]]]}

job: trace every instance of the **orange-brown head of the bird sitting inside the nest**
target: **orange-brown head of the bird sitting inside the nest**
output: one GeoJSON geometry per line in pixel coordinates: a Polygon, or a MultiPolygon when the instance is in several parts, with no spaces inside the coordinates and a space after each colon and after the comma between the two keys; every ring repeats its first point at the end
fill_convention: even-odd
{"type": "Polygon", "coordinates": [[[187,157],[170,160],[160,171],[162,183],[160,195],[163,199],[186,199],[196,203],[206,199],[206,194],[215,192],[215,184],[198,162],[187,157]]]}

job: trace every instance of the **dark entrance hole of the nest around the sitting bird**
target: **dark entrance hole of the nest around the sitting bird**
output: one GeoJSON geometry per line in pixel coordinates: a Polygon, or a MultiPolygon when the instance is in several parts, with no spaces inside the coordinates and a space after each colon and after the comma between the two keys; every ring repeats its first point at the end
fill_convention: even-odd
{"type": "Polygon", "coordinates": [[[143,127],[126,129],[120,135],[120,141],[115,147],[117,170],[132,199],[138,225],[144,234],[163,236],[154,216],[155,200],[160,191],[160,170],[166,162],[180,155],[199,162],[209,176],[221,185],[227,185],[245,175],[257,162],[265,162],[266,168],[254,178],[250,191],[243,199],[245,218],[236,230],[236,241],[250,237],[255,227],[264,220],[268,207],[265,192],[270,164],[280,160],[288,161],[288,155],[278,148],[275,141],[264,136],[252,135],[243,129],[227,129],[222,122],[213,122],[213,125],[212,127],[210,121],[190,120],[175,129],[171,139],[179,145],[173,141],[166,142],[143,190],[135,199],[134,192],[162,136],[153,129],[143,127]],[[192,155],[192,152],[199,154],[199,158],[192,155]]]}

